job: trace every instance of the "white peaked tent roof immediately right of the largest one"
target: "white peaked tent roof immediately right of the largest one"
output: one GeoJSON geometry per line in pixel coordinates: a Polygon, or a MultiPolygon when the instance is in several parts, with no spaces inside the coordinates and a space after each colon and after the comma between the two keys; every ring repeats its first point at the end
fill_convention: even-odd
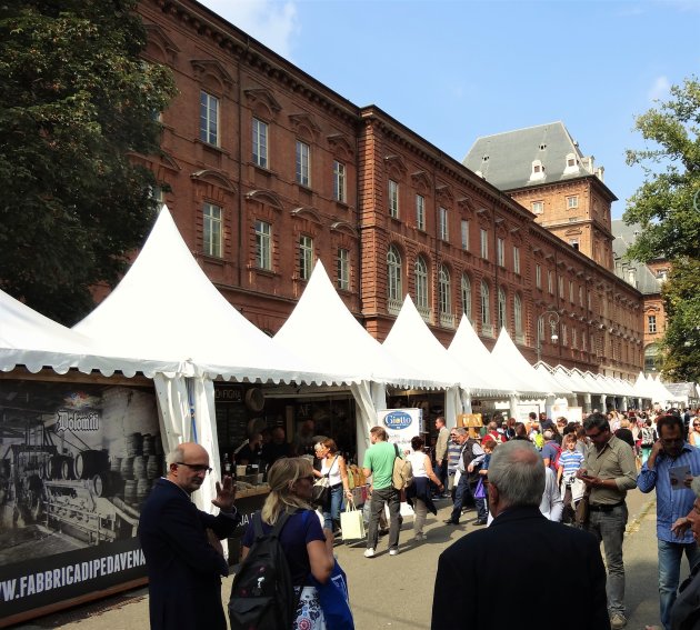
{"type": "Polygon", "coordinates": [[[274,341],[291,352],[303,353],[321,370],[340,370],[352,383],[373,381],[410,388],[444,384],[412,364],[418,361],[402,362],[382,347],[346,307],[320,260],[274,341]]]}

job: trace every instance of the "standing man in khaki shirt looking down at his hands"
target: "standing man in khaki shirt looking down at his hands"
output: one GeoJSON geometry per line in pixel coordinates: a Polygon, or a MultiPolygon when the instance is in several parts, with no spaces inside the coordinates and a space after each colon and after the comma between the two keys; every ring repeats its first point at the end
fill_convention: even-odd
{"type": "Polygon", "coordinates": [[[608,567],[608,612],[610,627],[627,626],[624,617],[624,562],[622,540],[627,527],[627,491],[637,487],[637,466],[632,448],[614,437],[608,418],[591,413],[583,421],[591,444],[577,477],[586,483],[590,516],[586,526],[602,541],[608,567]]]}

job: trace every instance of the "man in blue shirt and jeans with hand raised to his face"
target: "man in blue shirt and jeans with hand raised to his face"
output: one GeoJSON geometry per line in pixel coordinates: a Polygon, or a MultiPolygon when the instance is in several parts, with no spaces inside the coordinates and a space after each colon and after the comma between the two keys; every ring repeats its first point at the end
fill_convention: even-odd
{"type": "Polygon", "coordinates": [[[700,449],[683,439],[683,423],[678,416],[657,420],[659,439],[642,466],[637,486],[642,492],[657,489],[657,538],[659,547],[659,608],[664,630],[671,628],[671,607],[676,601],[683,551],[692,569],[700,560],[698,544],[690,530],[672,531],[678,519],[691,511],[696,497],[690,490],[692,477],[700,476],[700,449]],[[683,468],[684,467],[684,468],[683,468]]]}

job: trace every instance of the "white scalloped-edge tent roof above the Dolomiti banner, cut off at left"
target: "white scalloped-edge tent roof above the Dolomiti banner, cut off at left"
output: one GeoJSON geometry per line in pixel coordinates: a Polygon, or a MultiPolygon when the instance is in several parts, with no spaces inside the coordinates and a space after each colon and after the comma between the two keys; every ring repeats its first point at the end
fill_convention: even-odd
{"type": "Polygon", "coordinates": [[[71,368],[90,373],[99,370],[110,377],[120,371],[126,377],[137,372],[147,376],[159,369],[176,372],[182,364],[150,361],[134,353],[124,356],[121,350],[111,352],[96,340],[38,313],[27,304],[0,291],[0,370],[9,372],[17,366],[24,366],[37,373],[43,368],[51,368],[64,374],[71,368]]]}

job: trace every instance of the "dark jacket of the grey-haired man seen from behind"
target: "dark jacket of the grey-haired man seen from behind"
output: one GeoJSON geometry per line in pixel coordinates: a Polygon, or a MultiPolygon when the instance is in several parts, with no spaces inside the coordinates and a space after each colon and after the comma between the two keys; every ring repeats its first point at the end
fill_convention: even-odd
{"type": "Polygon", "coordinates": [[[438,561],[432,630],[609,630],[606,570],[592,534],[511,508],[438,561]]]}

